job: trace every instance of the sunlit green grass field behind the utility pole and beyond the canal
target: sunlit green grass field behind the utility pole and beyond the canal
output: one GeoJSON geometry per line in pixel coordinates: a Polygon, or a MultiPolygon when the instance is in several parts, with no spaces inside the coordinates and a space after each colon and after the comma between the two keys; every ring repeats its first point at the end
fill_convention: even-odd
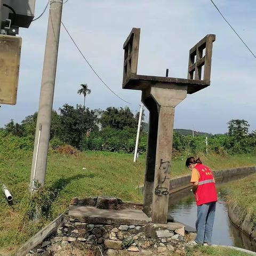
{"type": "MultiPolygon", "coordinates": [[[[145,157],[141,156],[137,163],[133,163],[133,156],[127,154],[89,151],[78,156],[65,156],[51,152],[46,187],[59,192],[52,199],[50,218],[31,223],[28,220],[31,156],[31,151],[23,149],[10,152],[7,149],[0,150],[0,181],[10,189],[14,197],[13,206],[9,206],[4,196],[0,196],[0,249],[12,251],[45,223],[67,210],[70,199],[75,196],[109,195],[127,201],[142,201],[137,187],[143,184],[145,157]]],[[[256,165],[256,156],[252,155],[211,155],[202,156],[202,160],[213,170],[256,165]]],[[[184,162],[185,159],[182,158],[174,159],[172,177],[190,172],[184,162]]]]}

